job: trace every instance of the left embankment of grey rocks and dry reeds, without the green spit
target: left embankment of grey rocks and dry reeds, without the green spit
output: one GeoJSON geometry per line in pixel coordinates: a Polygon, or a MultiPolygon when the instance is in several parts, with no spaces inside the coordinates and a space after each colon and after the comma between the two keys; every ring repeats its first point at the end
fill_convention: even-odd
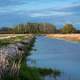
{"type": "Polygon", "coordinates": [[[25,50],[26,54],[28,54],[34,38],[34,35],[18,36],[15,37],[14,40],[12,40],[12,37],[9,37],[7,38],[7,45],[4,43],[6,39],[0,41],[4,43],[3,45],[1,44],[0,47],[0,80],[20,80],[22,59],[25,55],[25,50]],[[19,40],[15,41],[15,39],[19,40]]]}

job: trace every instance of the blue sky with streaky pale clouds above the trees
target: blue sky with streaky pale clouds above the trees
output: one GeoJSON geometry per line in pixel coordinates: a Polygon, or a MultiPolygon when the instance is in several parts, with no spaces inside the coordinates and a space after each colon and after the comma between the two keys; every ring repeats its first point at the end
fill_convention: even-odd
{"type": "Polygon", "coordinates": [[[48,22],[80,29],[80,0],[0,0],[0,27],[48,22]]]}

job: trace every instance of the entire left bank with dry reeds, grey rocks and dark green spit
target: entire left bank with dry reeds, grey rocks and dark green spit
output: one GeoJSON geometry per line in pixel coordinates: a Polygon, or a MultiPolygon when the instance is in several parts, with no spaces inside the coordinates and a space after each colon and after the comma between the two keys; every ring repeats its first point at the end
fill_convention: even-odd
{"type": "Polygon", "coordinates": [[[24,37],[18,36],[15,38],[9,37],[8,42],[3,41],[6,41],[6,38],[1,39],[1,80],[41,80],[41,77],[45,77],[47,75],[54,75],[55,78],[60,76],[61,72],[56,69],[28,67],[26,64],[26,57],[30,55],[30,51],[33,49],[36,37],[35,35],[24,35],[24,37]],[[12,43],[9,40],[11,40],[12,43]],[[17,40],[17,42],[15,40],[17,40]],[[6,45],[6,43],[8,44],[6,45]]]}

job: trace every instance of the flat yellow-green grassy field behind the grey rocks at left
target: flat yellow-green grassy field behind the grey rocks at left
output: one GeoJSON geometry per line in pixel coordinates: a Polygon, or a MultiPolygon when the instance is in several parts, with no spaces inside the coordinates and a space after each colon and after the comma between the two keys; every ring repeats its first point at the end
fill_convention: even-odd
{"type": "Polygon", "coordinates": [[[6,46],[8,44],[13,44],[25,40],[31,34],[3,34],[0,35],[0,46],[6,46]]]}

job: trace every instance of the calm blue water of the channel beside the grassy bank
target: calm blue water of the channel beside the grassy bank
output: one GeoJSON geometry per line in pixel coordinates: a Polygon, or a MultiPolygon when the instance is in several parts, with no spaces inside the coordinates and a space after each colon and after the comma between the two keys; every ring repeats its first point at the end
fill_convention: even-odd
{"type": "MultiPolygon", "coordinates": [[[[60,69],[59,80],[80,80],[80,43],[37,37],[29,66],[60,69]]],[[[46,80],[52,80],[47,78],[46,80]]]]}

